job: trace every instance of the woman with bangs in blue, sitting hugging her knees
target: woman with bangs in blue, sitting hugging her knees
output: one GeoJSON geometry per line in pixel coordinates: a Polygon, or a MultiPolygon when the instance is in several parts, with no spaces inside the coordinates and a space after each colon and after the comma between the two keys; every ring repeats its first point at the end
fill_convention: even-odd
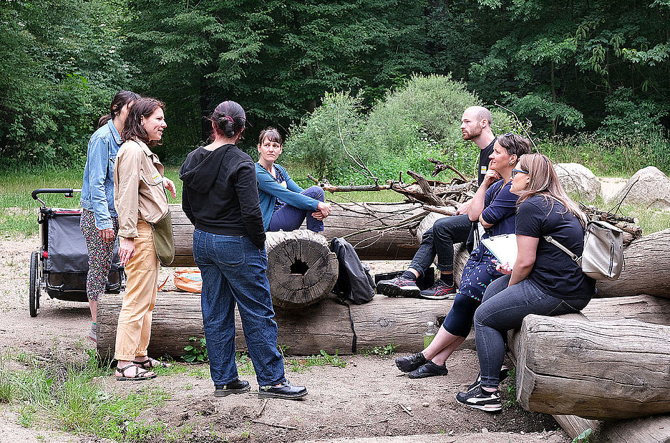
{"type": "Polygon", "coordinates": [[[332,208],[319,186],[303,190],[285,167],[274,163],[281,154],[281,135],[275,128],[262,130],[258,137],[258,197],[266,231],[293,231],[307,218],[307,229],[323,231],[323,220],[332,208]]]}

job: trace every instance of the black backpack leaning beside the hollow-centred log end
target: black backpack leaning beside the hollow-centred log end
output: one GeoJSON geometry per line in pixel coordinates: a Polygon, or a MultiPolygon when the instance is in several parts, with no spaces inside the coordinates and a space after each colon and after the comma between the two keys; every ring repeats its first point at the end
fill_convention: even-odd
{"type": "Polygon", "coordinates": [[[361,263],[351,243],[335,237],[330,241],[330,250],[335,253],[339,264],[333,292],[357,305],[371,301],[375,296],[375,280],[370,275],[370,267],[361,263]]]}

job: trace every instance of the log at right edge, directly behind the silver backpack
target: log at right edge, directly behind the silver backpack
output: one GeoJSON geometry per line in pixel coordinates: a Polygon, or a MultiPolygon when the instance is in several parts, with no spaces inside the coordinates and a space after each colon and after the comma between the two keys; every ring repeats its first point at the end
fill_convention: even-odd
{"type": "Polygon", "coordinates": [[[623,252],[625,269],[616,281],[597,282],[597,297],[649,294],[670,297],[670,229],[643,236],[623,252]]]}

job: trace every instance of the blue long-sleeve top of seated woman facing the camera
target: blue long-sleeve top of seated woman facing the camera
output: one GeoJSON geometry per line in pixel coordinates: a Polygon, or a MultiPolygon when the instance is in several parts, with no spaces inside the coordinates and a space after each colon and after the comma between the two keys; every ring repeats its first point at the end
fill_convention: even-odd
{"type": "Polygon", "coordinates": [[[277,183],[265,167],[262,167],[258,163],[255,166],[256,179],[258,180],[258,200],[260,202],[260,211],[263,214],[263,226],[266,231],[270,226],[270,220],[274,213],[274,204],[277,199],[298,209],[316,211],[319,201],[301,194],[303,189],[291,179],[283,166],[274,163],[274,167],[281,171],[286,180],[286,188],[277,183]]]}

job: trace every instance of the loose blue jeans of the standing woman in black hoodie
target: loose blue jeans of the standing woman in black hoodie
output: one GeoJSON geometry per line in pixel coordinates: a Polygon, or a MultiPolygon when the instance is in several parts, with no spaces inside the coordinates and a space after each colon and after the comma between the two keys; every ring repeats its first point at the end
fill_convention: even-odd
{"type": "Polygon", "coordinates": [[[267,255],[247,236],[193,232],[193,257],[202,275],[202,322],[214,384],[237,380],[235,303],[259,386],[285,381],[277,324],[267,281],[267,255]]]}

